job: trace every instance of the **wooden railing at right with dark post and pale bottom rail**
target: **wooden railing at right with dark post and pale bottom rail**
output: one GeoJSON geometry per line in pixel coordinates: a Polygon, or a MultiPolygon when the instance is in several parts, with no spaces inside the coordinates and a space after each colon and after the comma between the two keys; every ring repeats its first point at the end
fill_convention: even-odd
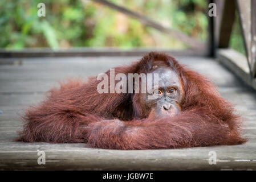
{"type": "Polygon", "coordinates": [[[256,89],[256,1],[215,0],[217,19],[214,22],[218,58],[247,84],[256,89]],[[231,31],[238,11],[246,56],[228,49],[231,31]]]}

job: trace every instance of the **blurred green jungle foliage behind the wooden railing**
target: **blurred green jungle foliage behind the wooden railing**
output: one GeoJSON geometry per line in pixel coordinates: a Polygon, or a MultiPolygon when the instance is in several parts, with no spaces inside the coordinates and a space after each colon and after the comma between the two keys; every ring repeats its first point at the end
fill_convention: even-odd
{"type": "MultiPolygon", "coordinates": [[[[109,1],[207,42],[208,1],[109,1]]],[[[230,46],[244,53],[238,23],[237,18],[230,46]]],[[[186,48],[177,39],[90,0],[1,0],[0,48],[42,47],[186,48]],[[37,5],[42,2],[46,5],[45,17],[37,15],[37,5]]]]}

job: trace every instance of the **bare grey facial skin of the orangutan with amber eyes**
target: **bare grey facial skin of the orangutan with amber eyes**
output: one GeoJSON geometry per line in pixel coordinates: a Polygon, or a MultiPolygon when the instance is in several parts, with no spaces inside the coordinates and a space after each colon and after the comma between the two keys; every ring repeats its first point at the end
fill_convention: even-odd
{"type": "MultiPolygon", "coordinates": [[[[150,108],[146,115],[156,118],[170,117],[182,111],[184,101],[184,88],[176,72],[170,68],[158,67],[152,72],[159,74],[158,89],[149,89],[146,94],[141,94],[145,108],[150,108]],[[153,99],[149,99],[149,97],[153,99]]],[[[153,84],[152,84],[153,85],[153,84]]]]}

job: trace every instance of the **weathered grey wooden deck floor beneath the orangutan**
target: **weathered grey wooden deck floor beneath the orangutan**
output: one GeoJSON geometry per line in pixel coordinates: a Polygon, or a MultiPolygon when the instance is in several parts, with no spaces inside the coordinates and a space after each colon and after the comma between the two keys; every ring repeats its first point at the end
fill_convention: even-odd
{"type": "Polygon", "coordinates": [[[208,76],[221,95],[235,105],[244,118],[244,135],[249,139],[246,144],[119,151],[88,148],[84,143],[13,142],[22,127],[19,113],[42,101],[44,92],[58,85],[58,81],[94,76],[136,59],[138,57],[22,58],[14,61],[15,65],[0,65],[0,169],[256,169],[256,92],[216,60],[204,57],[177,59],[208,76]],[[38,150],[46,153],[45,165],[37,163],[38,150]],[[216,165],[208,163],[209,151],[216,151],[216,165]]]}

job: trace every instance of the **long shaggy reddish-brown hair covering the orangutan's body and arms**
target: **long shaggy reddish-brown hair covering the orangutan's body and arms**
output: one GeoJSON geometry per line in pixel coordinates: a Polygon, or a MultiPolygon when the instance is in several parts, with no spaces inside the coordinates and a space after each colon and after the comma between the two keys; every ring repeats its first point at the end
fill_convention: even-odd
{"type": "MultiPolygon", "coordinates": [[[[239,134],[239,117],[204,76],[164,53],[151,52],[115,74],[149,73],[162,60],[178,73],[185,90],[182,112],[170,118],[145,118],[140,94],[97,92],[100,81],[69,81],[38,106],[27,109],[17,141],[74,143],[91,147],[143,150],[185,148],[246,141],[239,134]]],[[[109,71],[106,72],[109,76],[109,71]]],[[[109,76],[110,77],[110,76],[109,76]]]]}

